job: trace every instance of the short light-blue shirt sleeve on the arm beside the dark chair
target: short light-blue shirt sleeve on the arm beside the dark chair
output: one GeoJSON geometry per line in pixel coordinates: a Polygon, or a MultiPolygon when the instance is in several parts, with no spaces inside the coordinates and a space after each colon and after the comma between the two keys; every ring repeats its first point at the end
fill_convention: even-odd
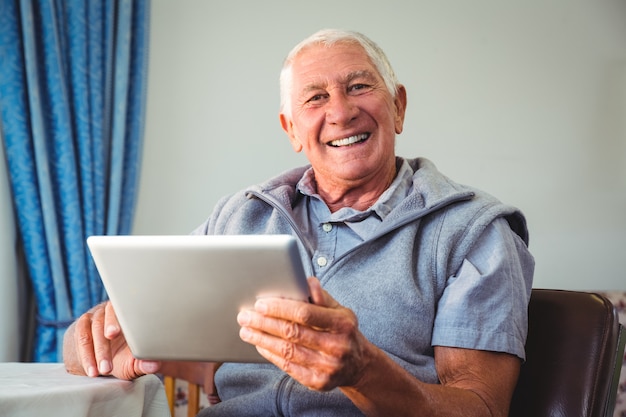
{"type": "Polygon", "coordinates": [[[506,352],[525,359],[534,260],[498,218],[448,278],[437,305],[433,346],[506,352]]]}

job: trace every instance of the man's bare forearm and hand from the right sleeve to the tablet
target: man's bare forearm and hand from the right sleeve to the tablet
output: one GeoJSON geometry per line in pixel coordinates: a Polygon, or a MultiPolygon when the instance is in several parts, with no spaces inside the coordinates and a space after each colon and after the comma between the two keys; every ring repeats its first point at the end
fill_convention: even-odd
{"type": "Polygon", "coordinates": [[[338,387],[367,416],[506,416],[520,361],[513,355],[435,346],[441,384],[409,374],[358,329],[316,278],[313,304],[264,298],[242,311],[241,338],[315,390],[338,387]]]}

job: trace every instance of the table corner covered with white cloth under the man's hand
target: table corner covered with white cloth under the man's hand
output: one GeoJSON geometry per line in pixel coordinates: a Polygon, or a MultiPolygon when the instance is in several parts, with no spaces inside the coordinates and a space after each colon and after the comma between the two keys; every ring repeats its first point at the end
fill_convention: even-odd
{"type": "Polygon", "coordinates": [[[169,417],[159,378],[70,375],[60,363],[0,363],[0,417],[169,417]]]}

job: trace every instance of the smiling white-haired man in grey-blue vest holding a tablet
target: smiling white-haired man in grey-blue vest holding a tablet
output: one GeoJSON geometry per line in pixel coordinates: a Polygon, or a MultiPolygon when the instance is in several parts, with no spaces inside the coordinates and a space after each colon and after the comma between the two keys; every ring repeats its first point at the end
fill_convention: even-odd
{"type": "MultiPolygon", "coordinates": [[[[362,34],[324,30],[281,72],[280,122],[310,166],[222,199],[200,234],[292,234],[312,303],[259,300],[241,338],[269,364],[223,364],[203,416],[506,416],[524,359],[534,261],[522,214],[395,155],[406,90],[362,34]]],[[[70,372],[132,379],[108,303],[68,330],[70,372]]]]}

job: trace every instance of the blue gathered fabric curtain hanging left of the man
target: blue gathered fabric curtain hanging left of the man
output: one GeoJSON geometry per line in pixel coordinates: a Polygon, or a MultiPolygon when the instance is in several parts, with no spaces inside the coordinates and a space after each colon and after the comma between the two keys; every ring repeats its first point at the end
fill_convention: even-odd
{"type": "Polygon", "coordinates": [[[106,299],[85,239],[129,234],[144,127],[149,0],[0,0],[0,115],[37,303],[33,360],[106,299]]]}

